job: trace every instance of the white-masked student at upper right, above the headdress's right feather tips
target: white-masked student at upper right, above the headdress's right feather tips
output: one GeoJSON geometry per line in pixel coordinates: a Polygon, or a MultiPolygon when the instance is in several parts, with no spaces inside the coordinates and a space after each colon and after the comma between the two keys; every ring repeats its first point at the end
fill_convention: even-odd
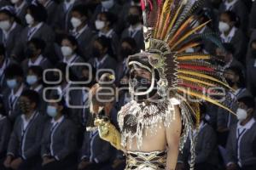
{"type": "Polygon", "coordinates": [[[245,63],[244,54],[247,52],[247,37],[237,27],[237,17],[232,11],[224,11],[219,15],[218,31],[222,42],[230,42],[234,48],[234,57],[245,63]]]}

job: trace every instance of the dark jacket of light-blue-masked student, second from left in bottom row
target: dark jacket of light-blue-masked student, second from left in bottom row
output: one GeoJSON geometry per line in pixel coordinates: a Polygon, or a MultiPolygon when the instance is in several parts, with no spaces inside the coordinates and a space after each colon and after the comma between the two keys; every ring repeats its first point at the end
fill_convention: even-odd
{"type": "Polygon", "coordinates": [[[51,120],[46,122],[44,135],[42,137],[41,156],[52,156],[50,154],[50,144],[53,150],[53,156],[57,160],[63,160],[76,150],[77,129],[73,122],[64,118],[55,130],[51,132],[51,120]]]}

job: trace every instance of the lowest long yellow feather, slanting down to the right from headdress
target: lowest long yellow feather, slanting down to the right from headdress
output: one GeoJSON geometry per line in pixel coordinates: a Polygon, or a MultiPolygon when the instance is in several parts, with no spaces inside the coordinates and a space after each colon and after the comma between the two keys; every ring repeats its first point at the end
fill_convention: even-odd
{"type": "Polygon", "coordinates": [[[207,100],[208,102],[211,102],[214,105],[218,105],[219,107],[222,107],[227,111],[230,111],[230,113],[232,113],[233,115],[236,116],[236,113],[234,113],[234,111],[231,111],[228,107],[225,107],[224,105],[221,105],[220,103],[218,103],[218,101],[216,101],[214,99],[211,99],[211,98],[207,97],[206,95],[197,94],[195,92],[188,91],[185,88],[177,87],[177,89],[182,91],[184,94],[189,94],[189,95],[195,96],[198,99],[204,99],[204,100],[207,100]]]}

